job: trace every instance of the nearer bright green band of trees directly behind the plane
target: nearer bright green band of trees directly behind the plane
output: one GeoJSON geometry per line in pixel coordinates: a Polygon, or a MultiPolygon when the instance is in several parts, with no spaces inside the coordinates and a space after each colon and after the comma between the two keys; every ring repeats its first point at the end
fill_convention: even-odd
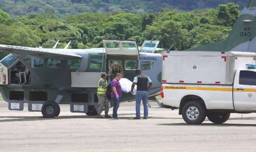
{"type": "MultiPolygon", "coordinates": [[[[173,45],[172,50],[184,50],[225,40],[240,14],[238,8],[227,3],[190,12],[162,9],[138,15],[115,10],[63,18],[51,11],[11,18],[0,10],[0,44],[52,48],[60,40],[57,48],[64,48],[72,40],[70,49],[87,49],[102,47],[102,39],[136,40],[141,46],[154,38],[160,40],[158,48],[173,45]]],[[[1,53],[0,59],[4,56],[1,53]]]]}

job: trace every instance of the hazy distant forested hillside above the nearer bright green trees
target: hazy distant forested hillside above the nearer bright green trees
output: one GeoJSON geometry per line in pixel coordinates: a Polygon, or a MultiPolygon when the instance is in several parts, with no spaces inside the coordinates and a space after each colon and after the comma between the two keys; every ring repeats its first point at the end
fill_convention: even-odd
{"type": "Polygon", "coordinates": [[[52,11],[58,17],[80,13],[102,13],[120,10],[126,13],[145,14],[161,9],[184,11],[203,8],[216,9],[219,4],[234,2],[242,9],[248,0],[0,0],[0,9],[11,17],[41,14],[52,11]]]}

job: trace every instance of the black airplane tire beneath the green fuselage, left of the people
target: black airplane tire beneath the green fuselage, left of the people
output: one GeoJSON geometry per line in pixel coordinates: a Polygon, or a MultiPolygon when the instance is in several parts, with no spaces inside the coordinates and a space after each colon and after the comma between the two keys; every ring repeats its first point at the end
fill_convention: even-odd
{"type": "Polygon", "coordinates": [[[53,118],[60,114],[60,106],[53,101],[47,101],[42,105],[41,112],[45,118],[53,118]]]}

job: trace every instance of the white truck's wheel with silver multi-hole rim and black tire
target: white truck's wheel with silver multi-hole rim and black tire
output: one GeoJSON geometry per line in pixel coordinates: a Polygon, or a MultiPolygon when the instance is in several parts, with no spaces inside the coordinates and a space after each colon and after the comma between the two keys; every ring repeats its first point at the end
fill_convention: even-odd
{"type": "Polygon", "coordinates": [[[186,103],[182,108],[182,118],[189,125],[201,124],[206,117],[206,109],[197,101],[186,103]]]}

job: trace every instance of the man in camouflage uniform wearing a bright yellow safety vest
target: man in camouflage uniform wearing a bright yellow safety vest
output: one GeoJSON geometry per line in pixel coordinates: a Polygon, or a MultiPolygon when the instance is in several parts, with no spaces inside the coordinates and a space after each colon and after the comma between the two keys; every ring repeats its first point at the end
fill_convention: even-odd
{"type": "Polygon", "coordinates": [[[98,103],[99,103],[99,108],[98,108],[98,114],[97,118],[103,118],[102,115],[100,115],[105,107],[105,118],[111,118],[109,113],[109,101],[106,95],[107,88],[109,86],[107,79],[107,73],[102,72],[101,73],[101,78],[98,82],[98,91],[97,91],[97,97],[98,97],[98,103]]]}

